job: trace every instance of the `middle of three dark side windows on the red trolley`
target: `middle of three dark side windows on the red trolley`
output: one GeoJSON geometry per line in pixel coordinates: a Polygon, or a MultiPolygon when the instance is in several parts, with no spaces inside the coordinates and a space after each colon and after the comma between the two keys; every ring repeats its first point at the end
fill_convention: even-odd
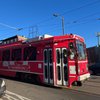
{"type": "Polygon", "coordinates": [[[22,58],[21,56],[22,56],[22,49],[21,48],[12,50],[12,61],[21,60],[21,58],[22,58]]]}

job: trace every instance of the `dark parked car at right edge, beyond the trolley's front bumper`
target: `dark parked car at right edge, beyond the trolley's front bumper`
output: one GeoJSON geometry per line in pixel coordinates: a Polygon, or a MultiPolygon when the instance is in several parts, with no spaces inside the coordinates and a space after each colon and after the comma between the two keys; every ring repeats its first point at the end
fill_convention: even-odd
{"type": "Polygon", "coordinates": [[[100,63],[89,66],[89,71],[91,75],[100,75],[100,63]]]}

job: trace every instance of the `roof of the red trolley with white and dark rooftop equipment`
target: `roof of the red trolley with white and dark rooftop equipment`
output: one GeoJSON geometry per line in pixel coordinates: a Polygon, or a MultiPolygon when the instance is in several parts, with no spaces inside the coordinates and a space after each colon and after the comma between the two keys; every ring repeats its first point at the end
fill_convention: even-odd
{"type": "Polygon", "coordinates": [[[84,42],[84,39],[82,37],[75,34],[65,34],[63,36],[51,36],[51,35],[46,34],[43,36],[31,38],[31,39],[27,39],[25,37],[16,35],[14,37],[10,37],[5,40],[2,40],[3,42],[0,43],[0,48],[5,48],[9,46],[18,46],[21,44],[28,44],[28,43],[32,43],[32,44],[55,43],[55,42],[61,42],[61,41],[66,41],[66,40],[71,40],[71,39],[76,39],[81,42],[84,42]],[[10,42],[11,40],[16,39],[16,38],[17,38],[17,41],[10,42]]]}

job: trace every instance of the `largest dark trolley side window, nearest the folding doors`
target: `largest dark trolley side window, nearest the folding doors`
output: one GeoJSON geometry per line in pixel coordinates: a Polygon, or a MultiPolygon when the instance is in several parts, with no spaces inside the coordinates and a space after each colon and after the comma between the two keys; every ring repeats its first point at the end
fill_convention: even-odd
{"type": "Polygon", "coordinates": [[[24,60],[36,60],[36,47],[26,47],[24,48],[24,60]]]}

